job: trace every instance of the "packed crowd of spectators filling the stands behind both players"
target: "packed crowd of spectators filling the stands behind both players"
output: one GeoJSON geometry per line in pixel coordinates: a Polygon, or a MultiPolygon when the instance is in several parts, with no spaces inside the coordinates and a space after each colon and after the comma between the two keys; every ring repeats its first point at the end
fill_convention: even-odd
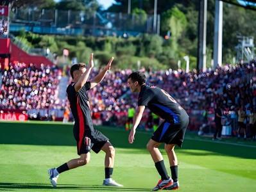
{"type": "MultiPolygon", "coordinates": [[[[157,70],[141,68],[148,77],[147,84],[164,88],[191,115],[207,109],[214,114],[217,104],[223,106],[223,113],[238,111],[241,106],[256,108],[256,65],[237,63],[224,65],[215,70],[186,73],[178,70],[157,70]]],[[[95,124],[124,125],[126,111],[136,105],[137,95],[130,94],[127,77],[130,69],[107,73],[101,86],[89,92],[92,117],[95,124]],[[121,115],[120,115],[121,114],[121,115]]],[[[96,76],[98,71],[91,74],[96,76]]],[[[58,99],[58,84],[62,70],[58,67],[24,63],[10,65],[2,72],[0,88],[0,109],[64,109],[67,100],[58,99]]],[[[72,79],[69,79],[69,83],[72,79]]],[[[72,118],[71,118],[72,119],[72,118]]],[[[198,129],[200,122],[191,121],[191,129],[198,129]],[[198,124],[196,124],[198,122],[198,124]],[[193,128],[194,126],[194,128],[193,128]]]]}

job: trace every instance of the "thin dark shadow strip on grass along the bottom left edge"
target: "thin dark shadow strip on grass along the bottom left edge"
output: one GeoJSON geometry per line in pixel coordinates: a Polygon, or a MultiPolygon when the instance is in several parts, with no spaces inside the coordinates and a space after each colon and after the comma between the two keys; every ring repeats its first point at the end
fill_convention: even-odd
{"type": "Polygon", "coordinates": [[[0,191],[13,191],[15,189],[87,189],[91,191],[151,191],[145,188],[116,188],[98,185],[71,185],[60,184],[57,188],[53,188],[49,184],[31,184],[31,183],[7,183],[0,182],[0,191]]]}

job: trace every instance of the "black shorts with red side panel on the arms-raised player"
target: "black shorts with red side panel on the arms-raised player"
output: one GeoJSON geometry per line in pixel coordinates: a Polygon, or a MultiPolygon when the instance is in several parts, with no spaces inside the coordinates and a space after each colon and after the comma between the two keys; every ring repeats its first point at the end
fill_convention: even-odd
{"type": "Polygon", "coordinates": [[[76,140],[78,155],[87,154],[90,149],[98,154],[108,140],[102,132],[96,129],[93,132],[90,129],[86,129],[83,139],[81,141],[76,140]]]}

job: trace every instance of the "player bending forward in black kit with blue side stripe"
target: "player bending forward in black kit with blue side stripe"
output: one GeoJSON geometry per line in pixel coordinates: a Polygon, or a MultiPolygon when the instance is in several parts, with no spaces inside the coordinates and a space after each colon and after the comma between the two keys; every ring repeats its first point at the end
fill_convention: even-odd
{"type": "Polygon", "coordinates": [[[146,76],[142,72],[133,72],[128,76],[128,85],[132,92],[139,92],[138,107],[136,109],[129,142],[135,140],[135,130],[139,125],[146,106],[151,112],[164,119],[148,141],[147,148],[155,163],[155,167],[161,179],[152,191],[159,189],[178,189],[178,160],[175,154],[175,145],[182,147],[185,131],[189,124],[189,116],[186,111],[166,91],[146,84],[146,76]],[[171,168],[169,177],[164,159],[158,147],[165,143],[165,150],[171,168]]]}

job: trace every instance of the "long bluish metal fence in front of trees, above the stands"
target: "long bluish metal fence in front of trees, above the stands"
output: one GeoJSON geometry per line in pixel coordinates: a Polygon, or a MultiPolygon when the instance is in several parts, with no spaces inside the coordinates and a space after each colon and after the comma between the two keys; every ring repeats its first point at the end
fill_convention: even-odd
{"type": "Polygon", "coordinates": [[[19,8],[11,21],[10,31],[24,28],[35,33],[135,36],[139,33],[159,33],[160,15],[157,15],[157,24],[154,25],[154,15],[19,8]]]}

